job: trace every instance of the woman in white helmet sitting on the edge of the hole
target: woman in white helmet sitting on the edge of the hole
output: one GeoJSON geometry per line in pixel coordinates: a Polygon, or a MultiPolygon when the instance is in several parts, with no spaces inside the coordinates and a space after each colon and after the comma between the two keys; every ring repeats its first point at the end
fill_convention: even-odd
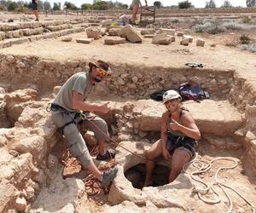
{"type": "Polygon", "coordinates": [[[152,184],[150,180],[154,170],[154,158],[163,155],[172,158],[169,183],[174,181],[183,165],[195,157],[196,140],[201,139],[192,115],[182,107],[181,96],[175,90],[168,90],[163,95],[163,102],[167,111],[161,118],[161,138],[146,151],[146,180],[144,187],[152,184]]]}

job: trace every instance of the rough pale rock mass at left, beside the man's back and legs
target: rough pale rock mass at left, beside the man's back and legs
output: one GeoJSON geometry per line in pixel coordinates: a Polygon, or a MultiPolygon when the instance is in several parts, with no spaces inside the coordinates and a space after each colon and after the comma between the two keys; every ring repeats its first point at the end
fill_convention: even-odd
{"type": "Polygon", "coordinates": [[[47,102],[35,101],[37,97],[32,89],[4,95],[8,115],[18,118],[13,128],[0,130],[1,212],[28,212],[39,187],[50,178],[52,162],[58,162],[48,155],[59,140],[55,125],[45,112],[47,102]]]}

